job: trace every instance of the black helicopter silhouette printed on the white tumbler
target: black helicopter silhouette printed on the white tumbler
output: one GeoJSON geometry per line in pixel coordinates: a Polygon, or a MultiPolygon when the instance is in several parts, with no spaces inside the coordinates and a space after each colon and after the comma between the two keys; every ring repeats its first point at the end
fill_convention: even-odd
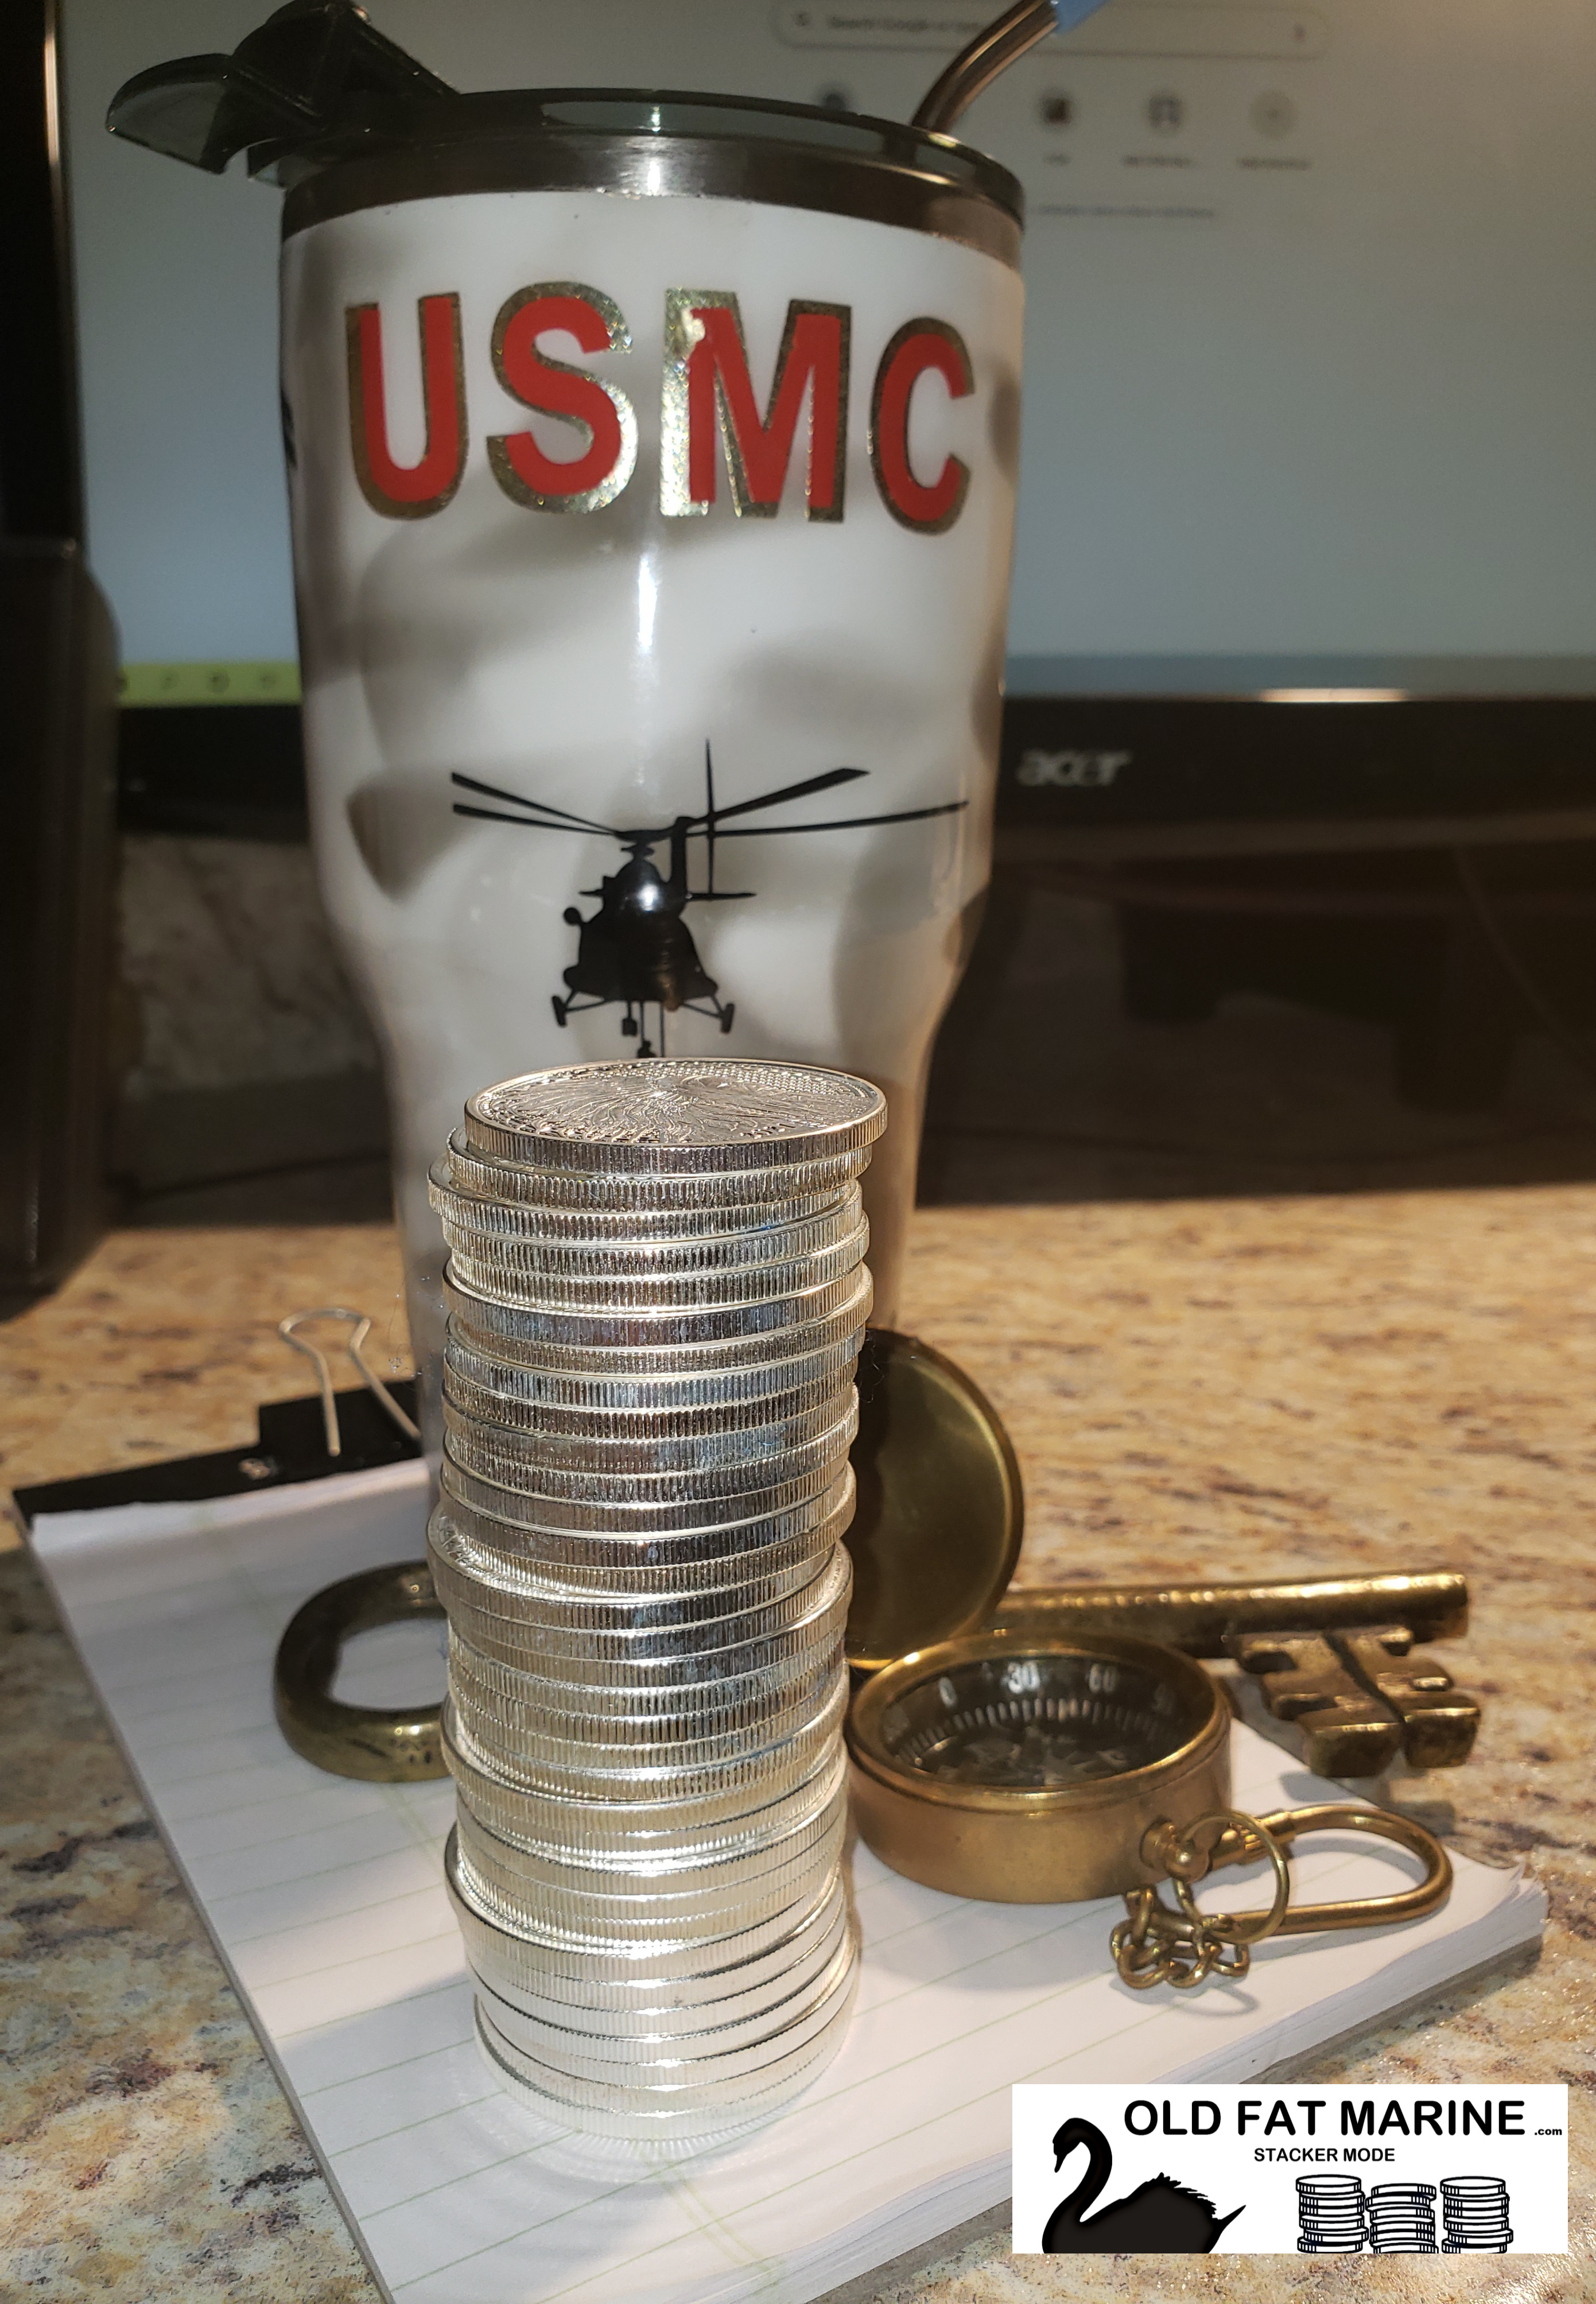
{"type": "Polygon", "coordinates": [[[580,832],[620,841],[626,862],[615,873],[606,873],[599,887],[585,887],[583,896],[596,896],[599,910],[583,915],[567,908],[567,926],[578,931],[576,965],[564,970],[567,991],[553,995],[555,1023],[569,1016],[585,1016],[599,1007],[622,1007],[622,1034],[638,1041],[638,1055],[666,1053],[666,1016],[686,1009],[689,1016],[712,1016],[723,1032],[732,1030],[737,1016],[735,1000],[721,1000],[721,986],[705,970],[691,929],[682,919],[689,903],[746,903],[758,889],[716,887],[714,850],[719,841],[776,839],[795,832],[852,832],[864,825],[914,825],[928,816],[958,816],[967,799],[944,799],[933,809],[894,809],[887,816],[831,816],[818,825],[737,825],[723,829],[730,816],[753,816],[755,809],[781,806],[783,799],[806,799],[811,793],[829,793],[838,783],[854,783],[868,776],[868,767],[831,767],[822,776],[806,776],[801,783],[783,783],[776,793],[760,793],[758,799],[737,799],[730,809],[716,806],[714,760],[705,744],[705,806],[700,816],[677,816],[668,825],[626,829],[622,825],[596,825],[587,816],[555,809],[546,799],[523,799],[497,783],[479,783],[477,776],[451,776],[463,793],[481,799],[497,799],[504,806],[481,809],[468,799],[454,802],[456,816],[474,816],[491,825],[525,825],[527,832],[580,832]],[[516,809],[518,813],[507,813],[516,809]],[[689,887],[686,843],[705,843],[705,885],[689,887]],[[661,873],[654,850],[668,843],[668,871],[661,873]],[[647,1039],[647,1009],[659,1011],[656,1039],[647,1039]]]}

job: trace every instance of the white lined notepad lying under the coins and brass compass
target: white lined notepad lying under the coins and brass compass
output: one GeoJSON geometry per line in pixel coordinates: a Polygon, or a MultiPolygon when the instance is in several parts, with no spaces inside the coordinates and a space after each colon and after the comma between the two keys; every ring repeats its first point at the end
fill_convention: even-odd
{"type": "MultiPolygon", "coordinates": [[[[272,1721],[292,1610],[419,1558],[424,1502],[424,1470],[396,1465],[35,1528],[150,1806],[401,2304],[806,2304],[1006,2196],[1016,2081],[1246,2078],[1541,1931],[1538,1889],[1458,1859],[1428,1922],[1267,1945],[1237,1988],[1131,1993],[1108,1961],[1119,1905],[967,1903],[857,1850],[864,1977],[841,2057],[751,2143],[645,2166],[539,2122],[481,2060],[440,1871],[454,1788],[325,1776],[272,1721]]],[[[1244,1809],[1345,1797],[1246,1728],[1234,1744],[1244,1809]]],[[[1393,1862],[1320,1841],[1292,1869],[1315,1898],[1389,1892],[1393,1862]]]]}

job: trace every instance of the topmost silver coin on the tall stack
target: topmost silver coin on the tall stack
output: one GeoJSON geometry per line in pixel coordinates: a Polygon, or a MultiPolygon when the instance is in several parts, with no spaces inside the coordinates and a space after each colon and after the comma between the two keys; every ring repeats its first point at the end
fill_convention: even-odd
{"type": "Polygon", "coordinates": [[[880,1087],[848,1071],[656,1055],[500,1081],[470,1099],[461,1134],[539,1168],[725,1173],[854,1152],[884,1127],[880,1087]]]}

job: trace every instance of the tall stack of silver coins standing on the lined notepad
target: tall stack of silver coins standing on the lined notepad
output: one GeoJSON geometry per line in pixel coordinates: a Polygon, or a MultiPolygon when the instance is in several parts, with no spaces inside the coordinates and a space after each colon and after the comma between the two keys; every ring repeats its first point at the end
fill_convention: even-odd
{"type": "Polygon", "coordinates": [[[474,1097],[449,1244],[449,1892],[500,2074],[702,2138],[836,2053],[875,1087],[656,1058],[474,1097]]]}

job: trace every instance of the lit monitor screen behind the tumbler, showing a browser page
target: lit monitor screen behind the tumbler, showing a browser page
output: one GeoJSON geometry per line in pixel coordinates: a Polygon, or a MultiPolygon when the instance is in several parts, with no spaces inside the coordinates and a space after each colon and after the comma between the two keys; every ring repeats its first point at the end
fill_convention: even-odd
{"type": "MultiPolygon", "coordinates": [[[[64,0],[88,541],[152,698],[292,682],[279,194],[101,122],[265,14],[64,0]]],[[[461,88],[905,118],[988,7],[371,16],[461,88]]],[[[1029,200],[1016,694],[1596,691],[1591,85],[1582,0],[1110,0],[972,108],[1029,200]]]]}

